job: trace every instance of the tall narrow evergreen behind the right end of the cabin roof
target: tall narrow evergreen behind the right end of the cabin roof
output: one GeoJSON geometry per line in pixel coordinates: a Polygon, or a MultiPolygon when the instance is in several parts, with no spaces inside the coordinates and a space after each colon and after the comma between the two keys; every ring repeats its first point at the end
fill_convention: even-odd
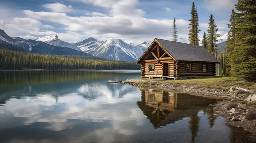
{"type": "Polygon", "coordinates": [[[218,46],[216,42],[218,41],[217,37],[220,37],[220,34],[217,34],[218,28],[214,23],[215,20],[212,14],[210,15],[209,20],[210,20],[210,22],[208,23],[209,27],[207,29],[207,32],[208,32],[207,34],[208,48],[207,49],[216,58],[217,56],[216,50],[218,50],[216,49],[216,47],[218,46]]]}

